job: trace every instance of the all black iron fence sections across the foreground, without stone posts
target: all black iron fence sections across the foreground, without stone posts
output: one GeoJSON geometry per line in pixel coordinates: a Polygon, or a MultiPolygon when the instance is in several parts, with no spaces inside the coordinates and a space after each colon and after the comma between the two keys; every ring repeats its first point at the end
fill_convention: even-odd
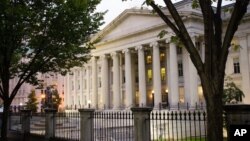
{"type": "MultiPolygon", "coordinates": [[[[151,141],[205,141],[206,112],[198,110],[153,110],[146,120],[150,123],[151,141]]],[[[22,116],[12,113],[10,130],[21,131],[22,116]]],[[[80,140],[81,116],[79,112],[55,113],[55,137],[80,140]]],[[[135,140],[134,114],[132,111],[95,111],[91,116],[91,134],[94,141],[135,140]]],[[[45,136],[46,113],[31,114],[30,133],[45,136]]]]}

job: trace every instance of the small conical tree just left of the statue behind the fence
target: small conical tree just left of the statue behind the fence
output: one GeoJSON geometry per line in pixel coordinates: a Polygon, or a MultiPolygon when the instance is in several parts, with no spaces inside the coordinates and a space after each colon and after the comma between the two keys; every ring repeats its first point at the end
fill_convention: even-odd
{"type": "Polygon", "coordinates": [[[28,95],[28,101],[26,102],[25,108],[36,113],[38,109],[37,105],[38,105],[38,102],[36,98],[36,93],[35,93],[35,90],[32,90],[31,93],[28,95]]]}

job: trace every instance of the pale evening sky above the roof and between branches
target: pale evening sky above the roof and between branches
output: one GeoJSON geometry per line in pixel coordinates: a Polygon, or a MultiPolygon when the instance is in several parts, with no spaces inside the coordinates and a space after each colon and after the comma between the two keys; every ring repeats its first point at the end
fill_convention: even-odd
{"type": "MultiPolygon", "coordinates": [[[[104,15],[105,24],[100,27],[103,29],[107,24],[109,24],[112,20],[114,20],[119,14],[121,14],[125,9],[129,9],[132,7],[140,8],[142,3],[145,0],[127,0],[122,2],[122,0],[102,0],[101,3],[97,6],[98,12],[104,12],[108,10],[108,12],[104,15]]],[[[157,4],[164,5],[163,0],[155,0],[157,4]]],[[[173,2],[177,2],[180,0],[172,0],[173,2]]],[[[224,2],[226,4],[227,2],[224,2]]]]}

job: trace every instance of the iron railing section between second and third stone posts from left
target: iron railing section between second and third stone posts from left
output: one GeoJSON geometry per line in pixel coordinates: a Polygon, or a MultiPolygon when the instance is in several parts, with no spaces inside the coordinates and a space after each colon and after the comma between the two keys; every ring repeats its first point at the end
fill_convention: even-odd
{"type": "Polygon", "coordinates": [[[66,140],[80,140],[79,112],[56,113],[55,137],[66,140]]]}

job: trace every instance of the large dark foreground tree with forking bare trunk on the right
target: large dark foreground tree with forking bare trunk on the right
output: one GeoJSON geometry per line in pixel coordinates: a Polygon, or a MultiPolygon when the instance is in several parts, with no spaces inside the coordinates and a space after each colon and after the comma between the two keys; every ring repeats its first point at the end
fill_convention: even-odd
{"type": "Polygon", "coordinates": [[[235,1],[232,6],[231,17],[227,24],[223,24],[221,17],[222,0],[193,0],[193,6],[198,6],[201,9],[203,17],[205,42],[204,62],[191,40],[181,14],[176,10],[173,2],[171,0],[163,1],[170,16],[168,16],[165,13],[166,11],[157,5],[154,0],[145,0],[145,3],[150,5],[166,25],[172,29],[175,36],[188,51],[200,77],[207,104],[207,140],[222,141],[222,95],[226,61],[231,41],[243,16],[247,12],[249,0],[235,1]],[[216,7],[212,7],[212,2],[217,2],[216,7]],[[225,32],[222,32],[223,26],[226,26],[225,32]]]}

